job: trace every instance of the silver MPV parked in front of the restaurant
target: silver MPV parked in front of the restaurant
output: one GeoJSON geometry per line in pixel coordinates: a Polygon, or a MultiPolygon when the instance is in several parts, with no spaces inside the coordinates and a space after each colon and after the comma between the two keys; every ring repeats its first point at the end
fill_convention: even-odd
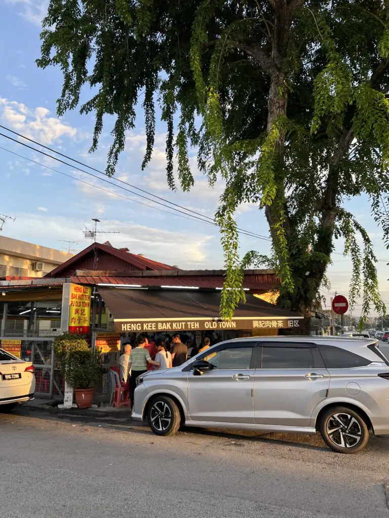
{"type": "Polygon", "coordinates": [[[389,362],[377,340],[318,336],[221,342],[137,378],[132,416],[157,435],[180,425],[315,434],[355,453],[389,434],[389,362]]]}

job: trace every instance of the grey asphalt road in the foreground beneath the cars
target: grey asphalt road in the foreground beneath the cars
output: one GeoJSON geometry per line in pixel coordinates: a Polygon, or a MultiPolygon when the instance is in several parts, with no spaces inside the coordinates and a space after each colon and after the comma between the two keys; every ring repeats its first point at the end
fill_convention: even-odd
{"type": "Polygon", "coordinates": [[[318,436],[189,430],[127,414],[0,414],[0,502],[12,518],[389,518],[389,438],[356,455],[318,436]]]}

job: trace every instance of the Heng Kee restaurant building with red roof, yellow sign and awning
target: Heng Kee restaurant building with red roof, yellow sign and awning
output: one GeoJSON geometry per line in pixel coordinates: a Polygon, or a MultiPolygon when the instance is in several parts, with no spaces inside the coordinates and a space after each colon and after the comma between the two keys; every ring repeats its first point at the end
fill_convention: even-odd
{"type": "Polygon", "coordinates": [[[279,286],[273,270],[246,270],[245,303],[232,320],[221,319],[224,275],[224,270],[182,270],[93,243],[42,279],[0,280],[1,347],[33,361],[38,395],[63,398],[53,340],[63,332],[85,335],[103,353],[104,397],[109,366],[117,365],[120,344],[134,333],[180,333],[200,343],[204,336],[225,340],[300,327],[300,316],[269,302],[279,286]]]}

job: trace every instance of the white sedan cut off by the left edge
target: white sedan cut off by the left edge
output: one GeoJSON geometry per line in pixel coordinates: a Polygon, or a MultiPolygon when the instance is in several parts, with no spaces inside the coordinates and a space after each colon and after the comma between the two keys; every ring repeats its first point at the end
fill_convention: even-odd
{"type": "Polygon", "coordinates": [[[8,412],[18,403],[29,401],[34,392],[33,364],[0,349],[0,412],[8,412]]]}

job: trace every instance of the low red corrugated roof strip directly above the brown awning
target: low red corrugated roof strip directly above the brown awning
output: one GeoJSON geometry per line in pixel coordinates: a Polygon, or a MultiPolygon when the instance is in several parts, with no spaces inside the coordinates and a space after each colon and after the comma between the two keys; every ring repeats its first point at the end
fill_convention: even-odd
{"type": "MultiPolygon", "coordinates": [[[[256,291],[270,291],[273,284],[256,279],[259,276],[247,276],[243,281],[243,287],[256,291]],[[252,278],[250,278],[252,277],[252,278]]],[[[215,290],[223,287],[225,278],[223,276],[187,276],[187,277],[71,277],[72,282],[77,284],[126,284],[141,286],[197,286],[202,289],[215,290]]]]}

